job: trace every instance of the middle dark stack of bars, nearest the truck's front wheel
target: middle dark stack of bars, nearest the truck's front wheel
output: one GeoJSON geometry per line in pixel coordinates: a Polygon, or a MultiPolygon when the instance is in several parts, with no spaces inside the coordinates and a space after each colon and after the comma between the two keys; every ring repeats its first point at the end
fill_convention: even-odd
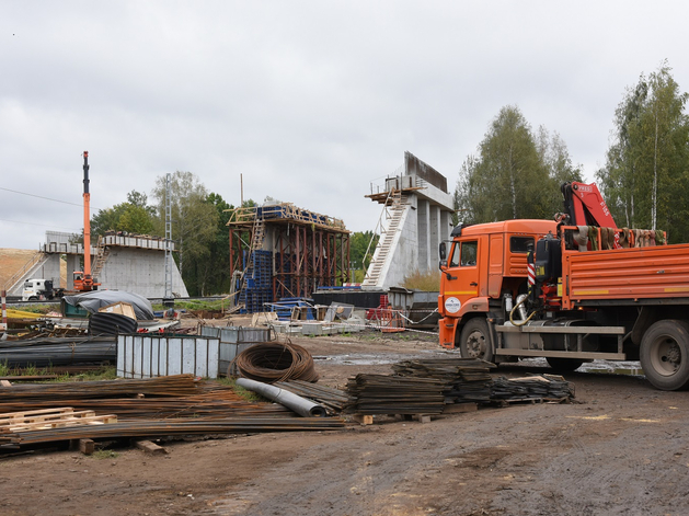
{"type": "Polygon", "coordinates": [[[445,403],[490,402],[492,368],[494,364],[478,358],[417,359],[392,366],[399,376],[441,380],[445,403]]]}

